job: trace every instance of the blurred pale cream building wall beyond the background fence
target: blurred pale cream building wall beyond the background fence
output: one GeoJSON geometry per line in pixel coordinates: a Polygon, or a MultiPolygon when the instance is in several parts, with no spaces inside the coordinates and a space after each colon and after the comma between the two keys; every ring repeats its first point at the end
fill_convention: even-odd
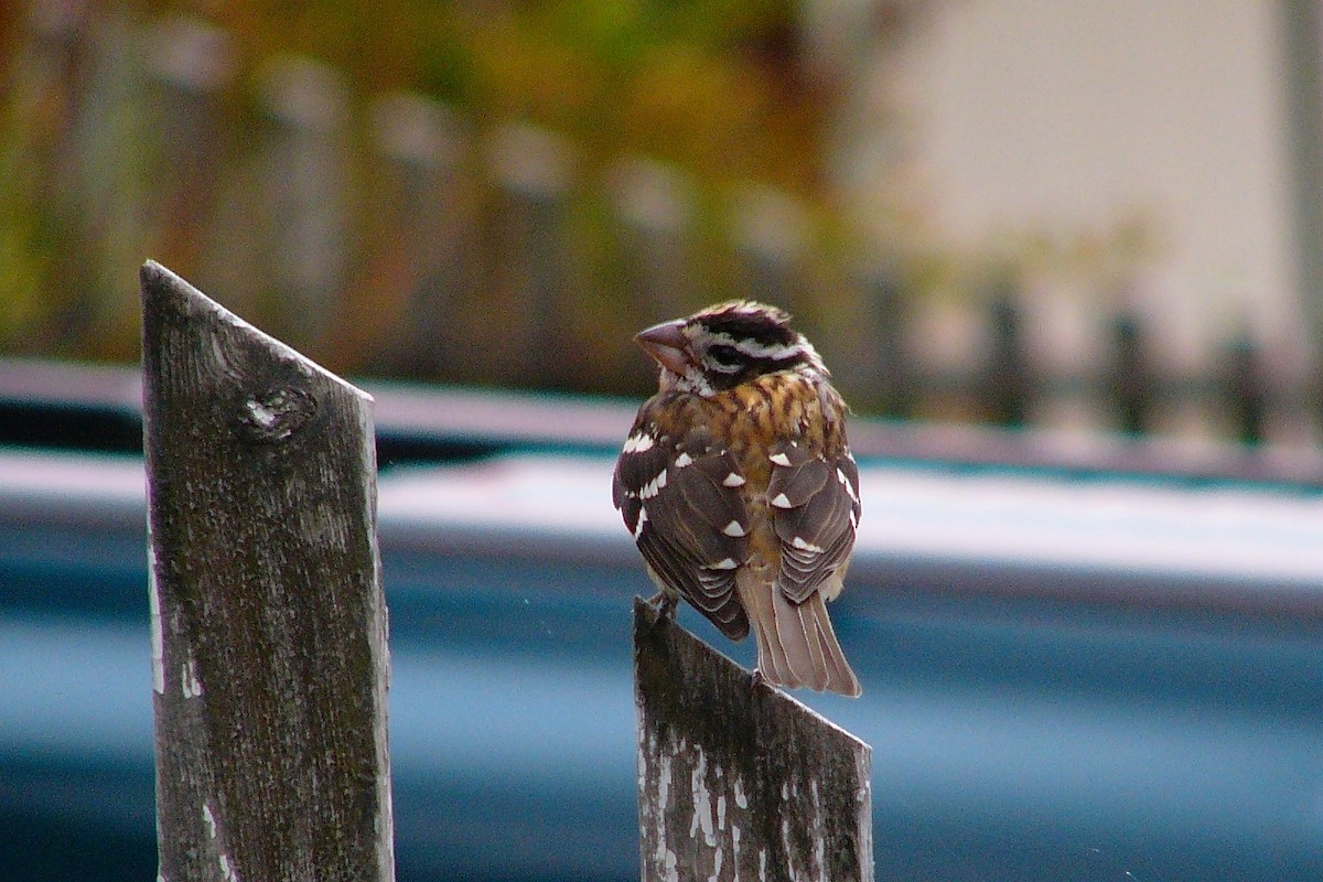
{"type": "Polygon", "coordinates": [[[959,247],[1142,218],[1139,309],[1176,366],[1248,323],[1290,358],[1294,295],[1275,3],[953,0],[904,60],[906,164],[959,247]]]}

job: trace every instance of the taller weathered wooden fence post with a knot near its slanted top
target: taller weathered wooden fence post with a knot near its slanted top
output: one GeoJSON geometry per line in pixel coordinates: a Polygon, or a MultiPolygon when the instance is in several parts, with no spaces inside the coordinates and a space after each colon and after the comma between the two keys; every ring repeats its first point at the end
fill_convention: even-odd
{"type": "Polygon", "coordinates": [[[142,270],[159,878],[394,877],[370,399],[142,270]]]}

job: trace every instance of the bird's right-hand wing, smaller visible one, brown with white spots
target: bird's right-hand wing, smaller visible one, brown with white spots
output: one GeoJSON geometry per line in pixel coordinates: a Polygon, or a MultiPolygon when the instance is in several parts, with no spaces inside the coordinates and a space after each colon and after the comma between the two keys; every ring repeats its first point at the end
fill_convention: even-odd
{"type": "Polygon", "coordinates": [[[794,440],[771,451],[767,502],[781,540],[778,584],[803,603],[848,559],[859,528],[859,467],[847,447],[824,456],[794,440]]]}

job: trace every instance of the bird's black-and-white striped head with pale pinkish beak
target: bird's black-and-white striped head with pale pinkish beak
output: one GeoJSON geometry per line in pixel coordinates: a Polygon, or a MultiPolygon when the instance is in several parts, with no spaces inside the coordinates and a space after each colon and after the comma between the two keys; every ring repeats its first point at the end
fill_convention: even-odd
{"type": "Polygon", "coordinates": [[[765,303],[730,300],[663,321],[634,337],[662,366],[662,389],[714,395],[762,374],[799,370],[827,377],[790,316],[765,303]]]}

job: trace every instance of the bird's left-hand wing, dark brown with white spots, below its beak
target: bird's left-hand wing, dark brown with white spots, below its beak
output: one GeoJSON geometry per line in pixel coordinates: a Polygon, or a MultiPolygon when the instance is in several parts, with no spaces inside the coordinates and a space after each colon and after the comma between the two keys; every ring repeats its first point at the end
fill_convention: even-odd
{"type": "Polygon", "coordinates": [[[742,484],[734,456],[706,430],[676,438],[640,414],[611,492],[652,571],[733,640],[749,633],[734,591],[749,557],[742,484]]]}

